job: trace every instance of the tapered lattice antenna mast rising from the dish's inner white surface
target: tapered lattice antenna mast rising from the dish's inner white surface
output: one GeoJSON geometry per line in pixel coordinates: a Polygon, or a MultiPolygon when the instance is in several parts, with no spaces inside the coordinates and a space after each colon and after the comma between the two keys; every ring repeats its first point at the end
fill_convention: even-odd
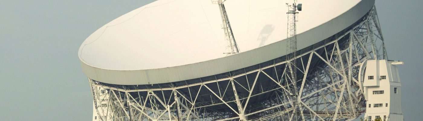
{"type": "Polygon", "coordinates": [[[226,14],[225,5],[226,0],[211,0],[211,3],[218,4],[220,9],[220,16],[222,18],[222,29],[225,30],[225,41],[227,42],[226,50],[223,54],[232,55],[239,52],[235,37],[233,37],[231,23],[229,23],[228,14],[226,14]]]}

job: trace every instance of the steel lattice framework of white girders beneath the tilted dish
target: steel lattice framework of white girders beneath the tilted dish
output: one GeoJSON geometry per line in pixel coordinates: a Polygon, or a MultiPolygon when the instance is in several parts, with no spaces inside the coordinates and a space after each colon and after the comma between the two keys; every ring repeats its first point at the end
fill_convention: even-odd
{"type": "Polygon", "coordinates": [[[284,56],[195,83],[89,83],[103,121],[295,121],[294,113],[301,121],[349,121],[365,110],[360,64],[387,59],[376,8],[293,59],[296,82],[286,80],[284,56]],[[297,104],[291,85],[298,85],[297,104]]]}

